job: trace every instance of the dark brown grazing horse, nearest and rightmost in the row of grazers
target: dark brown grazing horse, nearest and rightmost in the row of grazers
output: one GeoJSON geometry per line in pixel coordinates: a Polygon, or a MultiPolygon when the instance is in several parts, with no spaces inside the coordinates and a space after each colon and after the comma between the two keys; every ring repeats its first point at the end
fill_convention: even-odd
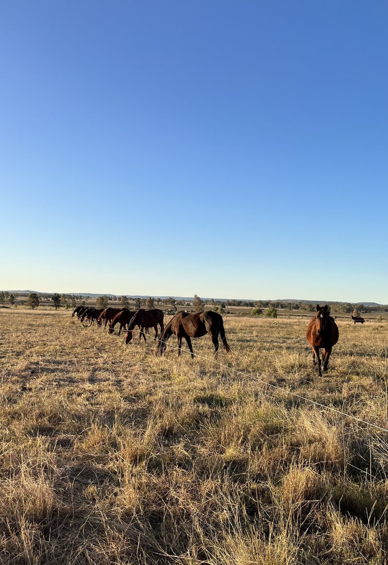
{"type": "Polygon", "coordinates": [[[202,337],[206,333],[209,334],[214,345],[214,357],[218,355],[218,335],[221,335],[224,350],[230,353],[230,347],[226,341],[224,323],[222,316],[209,310],[208,312],[200,312],[199,314],[189,314],[188,312],[178,312],[172,320],[166,325],[165,331],[159,338],[155,355],[162,355],[167,347],[167,340],[174,334],[178,340],[178,357],[182,348],[182,338],[187,341],[191,357],[194,358],[193,348],[191,346],[191,337],[202,337]]]}

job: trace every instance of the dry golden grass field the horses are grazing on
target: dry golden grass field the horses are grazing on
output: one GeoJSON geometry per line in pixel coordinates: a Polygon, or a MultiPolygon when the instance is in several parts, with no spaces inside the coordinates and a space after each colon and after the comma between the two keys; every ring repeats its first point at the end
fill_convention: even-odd
{"type": "Polygon", "coordinates": [[[388,427],[388,324],[338,325],[320,378],[303,320],[228,317],[219,365],[0,310],[0,563],[385,563],[388,433],[340,412],[388,427]]]}

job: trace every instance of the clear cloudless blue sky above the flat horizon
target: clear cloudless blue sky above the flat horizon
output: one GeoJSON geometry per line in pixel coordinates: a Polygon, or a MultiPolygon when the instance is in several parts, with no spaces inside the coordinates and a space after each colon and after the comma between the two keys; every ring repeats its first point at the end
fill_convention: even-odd
{"type": "Polygon", "coordinates": [[[388,3],[3,3],[0,289],[388,303],[388,3]]]}

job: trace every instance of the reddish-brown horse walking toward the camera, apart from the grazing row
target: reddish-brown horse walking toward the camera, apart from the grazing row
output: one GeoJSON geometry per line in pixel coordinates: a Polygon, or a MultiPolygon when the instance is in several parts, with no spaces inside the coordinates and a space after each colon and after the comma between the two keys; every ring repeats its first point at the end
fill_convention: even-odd
{"type": "Polygon", "coordinates": [[[316,315],[313,316],[306,330],[306,338],[312,347],[312,362],[318,363],[319,376],[321,373],[321,360],[319,358],[319,348],[322,347],[323,370],[329,368],[329,357],[332,353],[333,345],[338,341],[338,327],[332,316],[329,316],[329,307],[316,305],[316,315]]]}

